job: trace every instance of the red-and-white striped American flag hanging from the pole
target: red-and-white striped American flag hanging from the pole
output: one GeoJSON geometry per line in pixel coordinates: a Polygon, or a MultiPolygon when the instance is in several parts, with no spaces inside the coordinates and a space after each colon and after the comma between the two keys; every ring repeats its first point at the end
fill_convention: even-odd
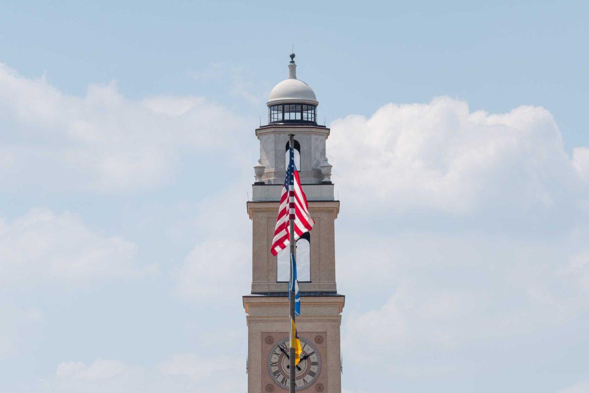
{"type": "Polygon", "coordinates": [[[289,155],[289,166],[286,170],[282,194],[280,194],[280,207],[276,219],[276,228],[274,229],[272,249],[270,249],[274,256],[290,244],[290,220],[294,220],[295,242],[299,240],[303,233],[309,232],[315,224],[309,213],[309,205],[303,187],[300,186],[299,172],[294,166],[294,150],[292,147],[289,155]]]}

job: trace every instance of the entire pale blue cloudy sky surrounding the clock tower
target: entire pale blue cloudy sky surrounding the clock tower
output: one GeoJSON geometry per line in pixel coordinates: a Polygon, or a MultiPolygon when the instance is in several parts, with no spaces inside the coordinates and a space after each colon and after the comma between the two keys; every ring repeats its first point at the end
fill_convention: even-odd
{"type": "Polygon", "coordinates": [[[343,392],[589,391],[586,2],[0,9],[1,393],[246,390],[254,129],[292,45],[331,128],[343,392]]]}

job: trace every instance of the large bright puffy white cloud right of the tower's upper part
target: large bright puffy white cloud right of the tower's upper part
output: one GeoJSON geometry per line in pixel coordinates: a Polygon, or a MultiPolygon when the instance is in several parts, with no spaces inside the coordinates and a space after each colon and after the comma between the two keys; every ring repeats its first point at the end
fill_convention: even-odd
{"type": "Polygon", "coordinates": [[[438,97],[387,104],[370,118],[350,115],[331,128],[334,179],[357,205],[369,195],[389,210],[550,207],[587,169],[587,152],[576,150],[573,165],[554,118],[540,107],[488,114],[438,97]]]}

